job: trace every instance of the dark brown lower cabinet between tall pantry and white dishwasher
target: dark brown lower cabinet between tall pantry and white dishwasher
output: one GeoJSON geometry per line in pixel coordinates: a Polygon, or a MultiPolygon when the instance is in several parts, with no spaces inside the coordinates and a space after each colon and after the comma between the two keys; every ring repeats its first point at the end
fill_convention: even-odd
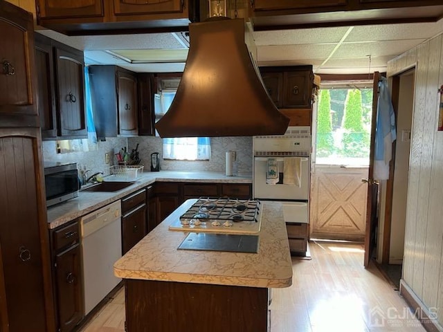
{"type": "Polygon", "coordinates": [[[60,332],[73,331],[84,317],[79,234],[77,220],[51,232],[57,326],[60,332]]]}

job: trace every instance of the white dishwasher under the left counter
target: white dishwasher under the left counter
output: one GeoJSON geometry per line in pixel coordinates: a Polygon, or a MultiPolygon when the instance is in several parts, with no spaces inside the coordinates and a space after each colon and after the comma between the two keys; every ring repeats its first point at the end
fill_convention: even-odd
{"type": "Polygon", "coordinates": [[[82,216],[84,314],[87,315],[120,282],[114,263],[122,257],[121,203],[82,216]]]}

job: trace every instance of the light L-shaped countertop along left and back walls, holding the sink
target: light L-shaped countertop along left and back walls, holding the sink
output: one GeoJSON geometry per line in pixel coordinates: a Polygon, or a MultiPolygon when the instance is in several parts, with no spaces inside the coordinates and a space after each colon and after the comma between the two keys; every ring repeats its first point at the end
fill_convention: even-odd
{"type": "Polygon", "coordinates": [[[48,208],[48,228],[57,228],[75,218],[93,212],[122,199],[156,181],[207,182],[207,183],[252,183],[252,176],[226,176],[219,172],[143,172],[137,181],[117,192],[78,192],[78,197],[48,208]]]}

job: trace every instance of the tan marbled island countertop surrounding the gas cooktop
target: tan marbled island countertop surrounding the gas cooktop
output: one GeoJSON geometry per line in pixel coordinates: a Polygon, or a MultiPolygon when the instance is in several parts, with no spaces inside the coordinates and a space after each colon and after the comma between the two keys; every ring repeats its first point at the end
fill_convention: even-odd
{"type": "Polygon", "coordinates": [[[263,288],[292,284],[282,205],[262,202],[262,225],[258,253],[177,250],[188,232],[169,230],[195,200],[188,200],[114,264],[123,279],[147,279],[263,288]]]}

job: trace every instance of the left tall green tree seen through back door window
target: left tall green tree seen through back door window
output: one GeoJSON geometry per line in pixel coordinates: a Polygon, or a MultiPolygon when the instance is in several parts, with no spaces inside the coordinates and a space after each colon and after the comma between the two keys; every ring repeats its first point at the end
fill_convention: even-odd
{"type": "Polygon", "coordinates": [[[327,157],[334,154],[332,137],[331,96],[329,90],[320,90],[317,119],[317,156],[327,157]]]}

